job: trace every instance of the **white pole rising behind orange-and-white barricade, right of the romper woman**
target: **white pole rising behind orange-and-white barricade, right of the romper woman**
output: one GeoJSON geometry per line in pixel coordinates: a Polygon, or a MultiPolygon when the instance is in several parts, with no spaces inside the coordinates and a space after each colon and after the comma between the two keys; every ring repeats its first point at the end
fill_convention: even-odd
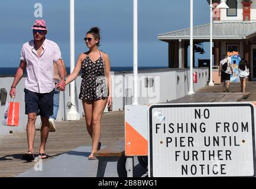
{"type": "Polygon", "coordinates": [[[134,95],[132,105],[138,105],[138,0],[134,0],[134,95]]]}

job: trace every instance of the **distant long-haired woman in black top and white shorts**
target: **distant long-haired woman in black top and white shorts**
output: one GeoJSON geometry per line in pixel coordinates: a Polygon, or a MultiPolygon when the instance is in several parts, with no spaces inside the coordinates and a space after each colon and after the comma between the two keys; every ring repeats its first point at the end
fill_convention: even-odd
{"type": "Polygon", "coordinates": [[[238,69],[239,69],[238,75],[240,77],[240,82],[241,82],[241,92],[244,93],[245,92],[245,83],[249,76],[248,63],[244,58],[242,58],[242,60],[239,62],[238,69]]]}

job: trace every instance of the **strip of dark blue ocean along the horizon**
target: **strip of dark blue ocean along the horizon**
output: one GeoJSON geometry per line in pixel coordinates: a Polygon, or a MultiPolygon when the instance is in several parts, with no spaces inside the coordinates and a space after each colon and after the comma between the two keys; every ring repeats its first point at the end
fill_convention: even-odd
{"type": "MultiPolygon", "coordinates": [[[[138,67],[138,70],[167,69],[168,67],[138,67]]],[[[15,76],[17,67],[0,67],[0,76],[15,76]]],[[[132,71],[133,67],[111,67],[111,71],[132,71]]],[[[24,73],[26,74],[26,73],[24,73]]],[[[70,67],[67,67],[70,74],[70,67]]]]}

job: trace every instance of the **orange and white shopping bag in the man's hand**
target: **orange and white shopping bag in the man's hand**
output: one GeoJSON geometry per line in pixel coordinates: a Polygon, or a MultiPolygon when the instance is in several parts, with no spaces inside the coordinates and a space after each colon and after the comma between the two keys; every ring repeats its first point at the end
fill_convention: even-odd
{"type": "Polygon", "coordinates": [[[4,125],[8,126],[18,126],[20,120],[20,103],[15,102],[14,98],[12,98],[11,102],[8,102],[5,105],[5,113],[4,113],[4,125]]]}

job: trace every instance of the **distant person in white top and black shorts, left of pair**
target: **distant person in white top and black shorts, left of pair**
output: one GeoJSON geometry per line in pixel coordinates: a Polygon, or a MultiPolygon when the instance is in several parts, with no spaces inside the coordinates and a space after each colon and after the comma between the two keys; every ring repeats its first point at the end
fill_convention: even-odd
{"type": "Polygon", "coordinates": [[[233,74],[232,66],[230,63],[231,58],[228,56],[223,57],[219,64],[219,76],[221,75],[221,82],[223,83],[223,92],[229,92],[230,76],[233,74]]]}

